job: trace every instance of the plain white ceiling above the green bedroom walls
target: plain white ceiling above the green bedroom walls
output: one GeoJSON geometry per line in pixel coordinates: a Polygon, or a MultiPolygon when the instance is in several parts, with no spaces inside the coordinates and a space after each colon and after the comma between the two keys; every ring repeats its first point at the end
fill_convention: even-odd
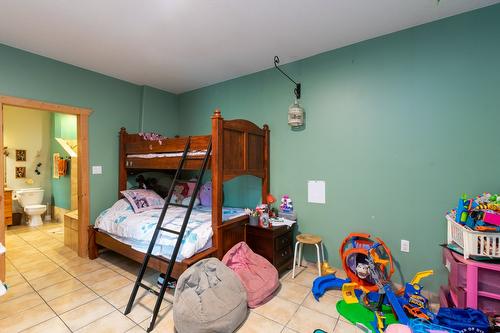
{"type": "Polygon", "coordinates": [[[0,0],[0,43],[174,93],[500,0],[0,0]]]}

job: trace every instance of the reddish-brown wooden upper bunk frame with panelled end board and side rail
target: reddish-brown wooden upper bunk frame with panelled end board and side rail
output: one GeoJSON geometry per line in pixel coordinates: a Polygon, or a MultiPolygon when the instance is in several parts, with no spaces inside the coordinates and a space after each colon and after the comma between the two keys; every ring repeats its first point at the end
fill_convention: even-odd
{"type": "MultiPolygon", "coordinates": [[[[269,127],[243,119],[224,120],[219,110],[212,116],[212,136],[191,136],[191,150],[206,149],[212,138],[212,181],[220,183],[242,175],[262,179],[264,196],[269,192],[269,127]],[[265,193],[264,193],[265,192],[265,193]]],[[[175,170],[180,157],[138,158],[131,155],[174,153],[184,150],[188,137],[146,141],[139,134],[120,130],[119,191],[127,186],[127,175],[152,170],[175,170]]],[[[203,156],[186,160],[184,169],[198,170],[203,156]]],[[[215,187],[215,184],[214,184],[215,187]]],[[[222,191],[221,191],[222,192],[222,191]]],[[[265,196],[264,196],[265,198],[265,196]]]]}

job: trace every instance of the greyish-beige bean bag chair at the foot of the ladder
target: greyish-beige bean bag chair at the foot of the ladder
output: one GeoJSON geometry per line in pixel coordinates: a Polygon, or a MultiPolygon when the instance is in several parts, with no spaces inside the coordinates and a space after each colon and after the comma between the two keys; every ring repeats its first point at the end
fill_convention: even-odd
{"type": "Polygon", "coordinates": [[[247,312],[245,288],[218,259],[197,262],[177,281],[173,315],[178,333],[233,332],[247,312]]]}

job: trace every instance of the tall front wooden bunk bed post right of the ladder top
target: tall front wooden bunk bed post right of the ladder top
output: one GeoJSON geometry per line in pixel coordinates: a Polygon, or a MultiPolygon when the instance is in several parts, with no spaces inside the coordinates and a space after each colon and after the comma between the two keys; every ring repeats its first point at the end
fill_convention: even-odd
{"type": "Polygon", "coordinates": [[[222,184],[224,178],[224,118],[216,109],[212,116],[212,246],[217,249],[217,257],[224,255],[220,227],[222,225],[222,184]]]}

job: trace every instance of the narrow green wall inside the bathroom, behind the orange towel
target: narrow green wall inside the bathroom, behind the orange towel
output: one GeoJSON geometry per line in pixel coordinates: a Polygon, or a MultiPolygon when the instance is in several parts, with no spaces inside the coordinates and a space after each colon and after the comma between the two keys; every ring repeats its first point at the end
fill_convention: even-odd
{"type": "MultiPolygon", "coordinates": [[[[56,138],[65,140],[77,139],[77,119],[75,115],[51,113],[52,135],[51,135],[51,150],[50,156],[54,153],[59,153],[61,157],[67,157],[69,154],[56,141],[56,138]]],[[[53,162],[53,159],[51,159],[53,162]]],[[[72,163],[70,161],[69,163],[72,163]]],[[[51,169],[54,166],[51,165],[51,169]]],[[[71,209],[71,167],[68,165],[68,173],[64,177],[52,178],[52,174],[48,175],[52,182],[52,204],[59,208],[71,209]]]]}

